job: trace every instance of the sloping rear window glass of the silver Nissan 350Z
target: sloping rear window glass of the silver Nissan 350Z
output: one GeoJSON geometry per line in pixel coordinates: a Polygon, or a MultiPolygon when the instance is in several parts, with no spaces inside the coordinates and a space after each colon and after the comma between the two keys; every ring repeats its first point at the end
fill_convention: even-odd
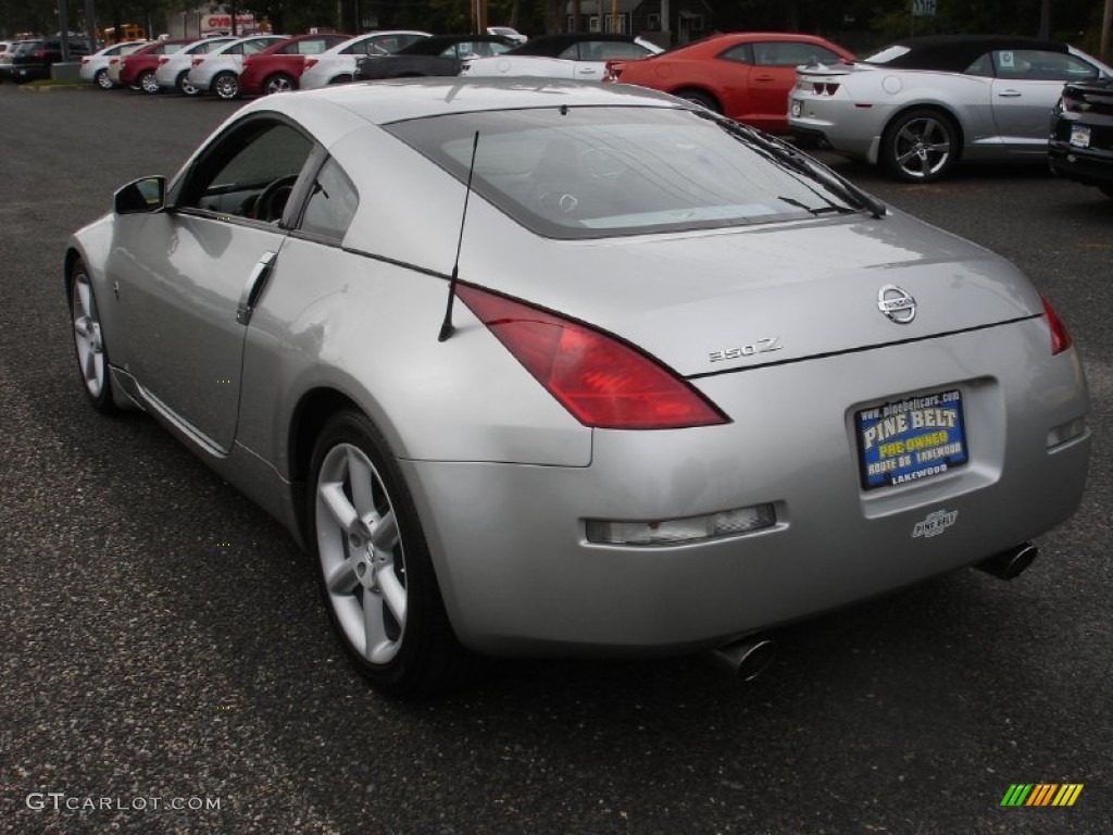
{"type": "Polygon", "coordinates": [[[845,194],[689,110],[585,107],[461,114],[387,130],[549,237],[798,220],[845,194]]]}

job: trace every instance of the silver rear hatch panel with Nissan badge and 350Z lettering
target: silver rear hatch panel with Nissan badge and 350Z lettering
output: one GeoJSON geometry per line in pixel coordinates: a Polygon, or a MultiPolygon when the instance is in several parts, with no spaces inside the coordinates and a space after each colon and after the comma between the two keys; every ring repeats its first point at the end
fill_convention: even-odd
{"type": "Polygon", "coordinates": [[[1042,310],[1008,262],[895,212],[729,232],[534,240],[521,248],[475,239],[473,248],[465,240],[461,279],[609,331],[686,376],[933,338],[1042,310]],[[910,322],[881,312],[879,296],[899,295],[887,287],[913,297],[910,322]]]}

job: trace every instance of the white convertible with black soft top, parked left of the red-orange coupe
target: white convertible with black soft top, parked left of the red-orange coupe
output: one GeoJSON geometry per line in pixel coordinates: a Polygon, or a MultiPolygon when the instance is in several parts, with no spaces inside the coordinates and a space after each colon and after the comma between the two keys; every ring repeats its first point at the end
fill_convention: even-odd
{"type": "Polygon", "coordinates": [[[656,43],[628,35],[542,35],[490,58],[464,61],[461,76],[535,76],[602,81],[607,62],[637,60],[663,51],[656,43]]]}

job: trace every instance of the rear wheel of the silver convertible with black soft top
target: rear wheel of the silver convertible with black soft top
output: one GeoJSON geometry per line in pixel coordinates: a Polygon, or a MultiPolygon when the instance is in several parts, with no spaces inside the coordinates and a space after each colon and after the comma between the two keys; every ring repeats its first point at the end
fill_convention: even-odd
{"type": "Polygon", "coordinates": [[[957,158],[958,129],[938,110],[900,114],[881,137],[881,166],[905,183],[937,180],[957,158]]]}

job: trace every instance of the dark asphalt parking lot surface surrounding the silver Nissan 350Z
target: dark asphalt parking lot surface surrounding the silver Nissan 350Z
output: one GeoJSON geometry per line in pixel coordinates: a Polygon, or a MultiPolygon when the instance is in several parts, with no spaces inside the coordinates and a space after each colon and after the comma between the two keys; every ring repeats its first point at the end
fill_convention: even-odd
{"type": "Polygon", "coordinates": [[[792,627],[746,688],[698,659],[504,662],[402,706],[341,657],[285,531],[152,421],[96,415],[73,373],[67,235],[124,181],[173,174],[235,106],[9,86],[0,102],[39,126],[0,167],[13,832],[1109,829],[1113,202],[1096,189],[1001,168],[900,186],[836,160],[1015,261],[1082,348],[1090,489],[1022,578],[962,572],[792,627]],[[1085,788],[1068,809],[1003,809],[1014,783],[1085,788]],[[32,793],[63,793],[62,811],[32,793]],[[165,808],[195,797],[220,808],[165,808]]]}

